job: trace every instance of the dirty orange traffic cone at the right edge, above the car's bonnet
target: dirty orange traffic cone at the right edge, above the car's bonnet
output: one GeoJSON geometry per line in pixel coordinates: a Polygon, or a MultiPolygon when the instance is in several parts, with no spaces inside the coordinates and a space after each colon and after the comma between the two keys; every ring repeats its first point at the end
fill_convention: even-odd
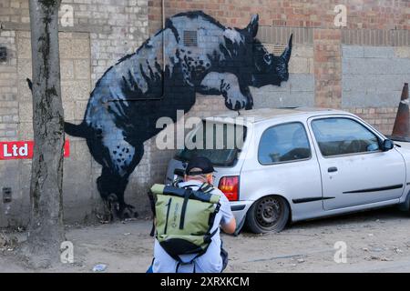
{"type": "Polygon", "coordinates": [[[395,116],[395,126],[393,126],[393,133],[391,136],[392,139],[398,141],[410,141],[410,114],[408,104],[408,83],[405,83],[397,115],[395,116]]]}

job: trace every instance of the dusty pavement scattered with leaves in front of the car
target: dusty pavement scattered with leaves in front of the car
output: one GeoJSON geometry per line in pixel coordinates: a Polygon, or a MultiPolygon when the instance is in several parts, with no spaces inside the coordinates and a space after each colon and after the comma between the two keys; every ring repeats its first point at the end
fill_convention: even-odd
{"type": "MultiPolygon", "coordinates": [[[[150,222],[67,227],[73,265],[47,272],[145,272],[151,262],[150,222]]],[[[24,240],[26,234],[18,234],[24,240]]],[[[396,208],[294,224],[280,234],[223,236],[230,254],[226,272],[410,272],[410,216],[396,208]],[[335,263],[337,241],[347,246],[346,263],[335,263]]],[[[35,272],[0,252],[0,272],[35,272]]]]}

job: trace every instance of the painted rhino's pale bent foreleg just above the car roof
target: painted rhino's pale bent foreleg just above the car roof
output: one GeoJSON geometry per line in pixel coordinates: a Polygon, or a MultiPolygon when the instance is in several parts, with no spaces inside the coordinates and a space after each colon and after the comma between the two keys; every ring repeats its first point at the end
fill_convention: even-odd
{"type": "Polygon", "coordinates": [[[238,77],[231,73],[208,73],[200,83],[200,93],[223,95],[225,105],[232,110],[251,109],[253,105],[249,87],[241,85],[238,77]]]}

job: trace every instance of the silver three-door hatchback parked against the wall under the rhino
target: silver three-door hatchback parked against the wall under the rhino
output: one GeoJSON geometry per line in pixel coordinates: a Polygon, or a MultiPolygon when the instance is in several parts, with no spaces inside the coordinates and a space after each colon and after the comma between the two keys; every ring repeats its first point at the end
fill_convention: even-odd
{"type": "MultiPolygon", "coordinates": [[[[226,127],[235,115],[203,123],[226,127]]],[[[183,176],[191,156],[209,157],[237,231],[246,223],[254,233],[278,232],[288,222],[382,206],[409,210],[408,144],[394,144],[358,116],[317,108],[256,109],[240,116],[243,123],[234,124],[242,129],[235,135],[241,147],[179,150],[165,181],[183,176]]]]}

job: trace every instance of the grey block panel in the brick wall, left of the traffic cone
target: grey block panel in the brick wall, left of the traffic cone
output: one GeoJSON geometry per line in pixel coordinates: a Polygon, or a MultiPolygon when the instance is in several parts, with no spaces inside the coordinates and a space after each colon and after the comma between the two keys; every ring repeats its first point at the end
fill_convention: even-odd
{"type": "Polygon", "coordinates": [[[343,108],[396,107],[410,82],[410,47],[343,45],[343,108]]]}

